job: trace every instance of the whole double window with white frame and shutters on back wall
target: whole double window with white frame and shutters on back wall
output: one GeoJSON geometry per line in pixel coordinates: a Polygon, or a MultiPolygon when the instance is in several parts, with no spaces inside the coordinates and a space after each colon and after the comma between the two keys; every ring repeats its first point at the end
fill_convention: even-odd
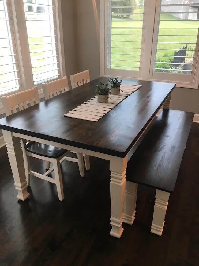
{"type": "Polygon", "coordinates": [[[198,88],[199,0],[101,2],[101,74],[198,88]]]}

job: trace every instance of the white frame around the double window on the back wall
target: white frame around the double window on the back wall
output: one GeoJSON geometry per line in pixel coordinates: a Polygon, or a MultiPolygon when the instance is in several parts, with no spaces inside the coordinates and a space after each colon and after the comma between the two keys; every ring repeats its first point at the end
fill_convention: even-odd
{"type": "MultiPolygon", "coordinates": [[[[100,76],[120,76],[122,78],[140,79],[140,80],[153,80],[162,82],[175,82],[176,87],[198,89],[199,86],[199,31],[196,43],[197,58],[194,58],[193,64],[195,64],[195,71],[192,81],[187,82],[186,75],[183,74],[170,74],[153,72],[153,61],[155,56],[155,44],[157,38],[157,23],[159,19],[160,0],[145,1],[144,5],[144,17],[143,17],[143,35],[144,45],[141,58],[145,58],[145,62],[140,62],[140,68],[142,68],[141,74],[136,76],[132,75],[133,71],[125,71],[118,69],[111,69],[107,72],[107,20],[108,9],[107,2],[109,0],[100,0],[100,76]],[[145,67],[143,68],[143,64],[145,67]],[[154,75],[155,73],[155,75],[154,75]],[[158,73],[158,75],[156,74],[158,73]],[[172,78],[171,75],[179,75],[179,79],[172,78]],[[155,76],[155,77],[154,77],[155,76]],[[159,77],[158,77],[159,76],[159,77]],[[180,80],[181,79],[181,80],[180,80]]],[[[139,71],[134,71],[139,72],[139,71]]]]}

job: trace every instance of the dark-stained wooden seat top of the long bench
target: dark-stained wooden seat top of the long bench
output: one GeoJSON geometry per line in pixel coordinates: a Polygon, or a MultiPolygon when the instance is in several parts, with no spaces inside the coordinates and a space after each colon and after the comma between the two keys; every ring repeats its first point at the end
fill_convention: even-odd
{"type": "Polygon", "coordinates": [[[126,180],[173,192],[193,117],[163,110],[130,158],[126,180]]]}

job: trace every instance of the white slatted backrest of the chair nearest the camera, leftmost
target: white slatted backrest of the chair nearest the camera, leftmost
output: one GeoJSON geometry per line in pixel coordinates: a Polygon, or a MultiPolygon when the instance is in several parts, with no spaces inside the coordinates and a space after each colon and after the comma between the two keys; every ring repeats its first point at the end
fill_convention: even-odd
{"type": "Polygon", "coordinates": [[[40,102],[37,87],[34,87],[26,91],[15,93],[7,97],[5,96],[1,97],[1,100],[2,100],[2,104],[5,110],[6,116],[12,114],[11,109],[13,113],[17,113],[16,107],[18,107],[20,111],[28,108],[28,104],[27,104],[28,101],[30,101],[30,106],[33,106],[40,102]]]}

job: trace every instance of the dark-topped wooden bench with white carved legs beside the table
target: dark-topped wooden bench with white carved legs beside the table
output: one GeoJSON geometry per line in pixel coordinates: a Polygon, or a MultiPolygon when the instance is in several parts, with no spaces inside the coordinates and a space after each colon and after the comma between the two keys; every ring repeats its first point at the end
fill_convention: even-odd
{"type": "Polygon", "coordinates": [[[151,232],[162,235],[170,193],[174,191],[194,114],[164,109],[128,162],[124,222],[135,219],[137,186],[156,188],[151,232]]]}

